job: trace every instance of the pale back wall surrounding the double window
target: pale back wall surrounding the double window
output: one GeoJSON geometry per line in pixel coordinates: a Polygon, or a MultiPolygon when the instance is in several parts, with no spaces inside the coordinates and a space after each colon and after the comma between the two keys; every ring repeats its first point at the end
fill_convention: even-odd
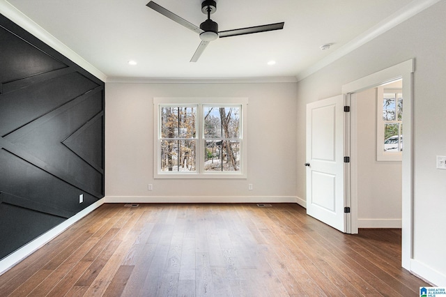
{"type": "Polygon", "coordinates": [[[107,83],[105,94],[106,201],[296,201],[295,82],[107,83]],[[153,98],[206,96],[249,99],[247,179],[154,179],[153,98]]]}

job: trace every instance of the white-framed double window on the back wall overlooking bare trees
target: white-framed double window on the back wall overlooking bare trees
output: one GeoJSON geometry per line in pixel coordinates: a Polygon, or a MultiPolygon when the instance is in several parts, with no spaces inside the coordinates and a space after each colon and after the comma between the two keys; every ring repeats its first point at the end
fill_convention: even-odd
{"type": "Polygon", "coordinates": [[[246,178],[247,98],[155,98],[156,178],[246,178]]]}

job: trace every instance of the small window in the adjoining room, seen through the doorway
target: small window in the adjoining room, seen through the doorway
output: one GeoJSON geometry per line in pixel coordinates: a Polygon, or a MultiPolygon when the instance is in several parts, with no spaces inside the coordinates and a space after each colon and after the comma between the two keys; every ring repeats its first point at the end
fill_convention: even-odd
{"type": "Polygon", "coordinates": [[[403,151],[403,94],[401,89],[378,88],[377,160],[401,161],[403,151]]]}

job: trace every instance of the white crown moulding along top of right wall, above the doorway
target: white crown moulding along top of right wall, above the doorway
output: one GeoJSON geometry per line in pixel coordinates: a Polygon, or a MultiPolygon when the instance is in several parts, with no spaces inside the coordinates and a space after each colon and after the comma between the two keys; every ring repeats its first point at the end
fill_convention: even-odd
{"type": "Polygon", "coordinates": [[[316,73],[318,70],[321,70],[325,66],[328,66],[331,63],[333,63],[334,61],[337,61],[337,59],[340,59],[341,57],[345,56],[346,54],[353,52],[353,50],[356,50],[361,45],[368,43],[369,41],[373,40],[374,38],[389,31],[390,29],[394,28],[394,26],[401,24],[402,22],[408,20],[410,17],[417,15],[417,13],[422,12],[426,8],[433,6],[433,4],[435,4],[439,1],[441,1],[441,0],[414,0],[414,1],[411,1],[410,3],[408,3],[408,5],[404,6],[403,8],[398,10],[396,13],[393,13],[392,15],[387,17],[385,20],[382,20],[375,26],[371,27],[371,29],[365,31],[364,33],[360,34],[359,36],[357,36],[350,42],[348,42],[345,45],[343,45],[342,47],[340,47],[338,50],[332,52],[332,54],[325,56],[324,59],[318,61],[317,63],[314,63],[309,68],[298,73],[298,75],[296,75],[296,78],[298,79],[298,81],[301,81],[302,79],[305,79],[305,77],[309,77],[309,75],[316,73]]]}

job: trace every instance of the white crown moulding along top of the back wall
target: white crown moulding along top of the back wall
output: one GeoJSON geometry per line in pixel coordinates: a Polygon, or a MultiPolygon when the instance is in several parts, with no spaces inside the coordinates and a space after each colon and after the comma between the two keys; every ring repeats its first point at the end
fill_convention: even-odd
{"type": "Polygon", "coordinates": [[[283,77],[108,77],[107,82],[130,84],[267,84],[295,83],[294,76],[283,77]]]}

